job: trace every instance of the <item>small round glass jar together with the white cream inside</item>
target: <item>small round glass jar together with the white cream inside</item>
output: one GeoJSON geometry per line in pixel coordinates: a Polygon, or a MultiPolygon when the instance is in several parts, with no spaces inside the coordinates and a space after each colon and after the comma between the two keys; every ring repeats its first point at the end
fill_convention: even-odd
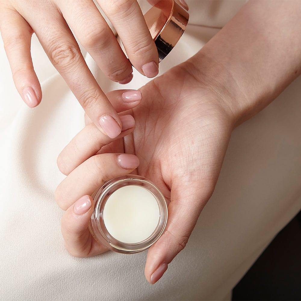
{"type": "Polygon", "coordinates": [[[151,247],[167,222],[162,192],[148,179],[125,175],[105,182],[92,194],[89,230],[108,249],[138,253],[151,247]]]}

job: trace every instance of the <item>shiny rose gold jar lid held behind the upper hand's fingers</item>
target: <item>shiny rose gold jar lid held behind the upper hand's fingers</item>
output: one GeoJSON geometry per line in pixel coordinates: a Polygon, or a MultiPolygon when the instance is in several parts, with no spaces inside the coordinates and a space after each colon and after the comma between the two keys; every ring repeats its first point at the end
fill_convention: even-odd
{"type": "Polygon", "coordinates": [[[176,0],[163,0],[147,11],[144,18],[157,46],[160,62],[184,33],[188,11],[176,0]]]}

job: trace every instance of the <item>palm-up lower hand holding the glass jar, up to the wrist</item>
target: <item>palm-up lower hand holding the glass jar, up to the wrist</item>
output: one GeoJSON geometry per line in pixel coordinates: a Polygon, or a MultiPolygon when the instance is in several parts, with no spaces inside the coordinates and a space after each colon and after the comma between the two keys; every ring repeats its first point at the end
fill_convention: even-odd
{"type": "Polygon", "coordinates": [[[130,111],[135,117],[131,134],[110,143],[95,136],[91,123],[73,138],[58,158],[60,170],[68,176],[55,194],[58,205],[67,209],[62,233],[71,254],[83,257],[105,251],[88,231],[92,200],[86,196],[79,201],[90,200],[89,211],[82,215],[76,213],[75,202],[91,195],[102,180],[131,172],[138,165],[135,154],[140,160],[135,172],[154,182],[169,203],[166,230],[148,250],[145,266],[150,283],[161,278],[188,242],[219,176],[235,120],[218,91],[222,89],[205,83],[188,61],[141,88],[143,101],[130,111]],[[108,145],[101,148],[104,144],[108,145]],[[116,160],[123,152],[132,156],[123,163],[126,169],[116,160]],[[79,177],[84,180],[78,182],[79,177]]]}

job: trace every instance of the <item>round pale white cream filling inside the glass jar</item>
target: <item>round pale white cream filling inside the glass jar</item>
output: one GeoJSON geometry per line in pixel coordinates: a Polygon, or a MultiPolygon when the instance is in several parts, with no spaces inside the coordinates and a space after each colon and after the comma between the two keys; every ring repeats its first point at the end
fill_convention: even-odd
{"type": "Polygon", "coordinates": [[[107,231],[124,243],[138,243],[156,229],[160,212],[157,200],[147,189],[129,185],[114,191],[104,205],[107,231]]]}

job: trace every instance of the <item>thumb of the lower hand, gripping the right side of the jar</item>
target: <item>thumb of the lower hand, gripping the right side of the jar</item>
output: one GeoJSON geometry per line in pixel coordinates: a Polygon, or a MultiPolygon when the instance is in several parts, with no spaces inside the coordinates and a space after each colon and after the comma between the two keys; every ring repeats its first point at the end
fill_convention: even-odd
{"type": "Polygon", "coordinates": [[[200,212],[213,192],[214,185],[202,187],[202,184],[200,179],[184,186],[182,181],[172,183],[166,229],[147,253],[144,272],[151,284],[162,277],[168,264],[186,246],[200,212]]]}

